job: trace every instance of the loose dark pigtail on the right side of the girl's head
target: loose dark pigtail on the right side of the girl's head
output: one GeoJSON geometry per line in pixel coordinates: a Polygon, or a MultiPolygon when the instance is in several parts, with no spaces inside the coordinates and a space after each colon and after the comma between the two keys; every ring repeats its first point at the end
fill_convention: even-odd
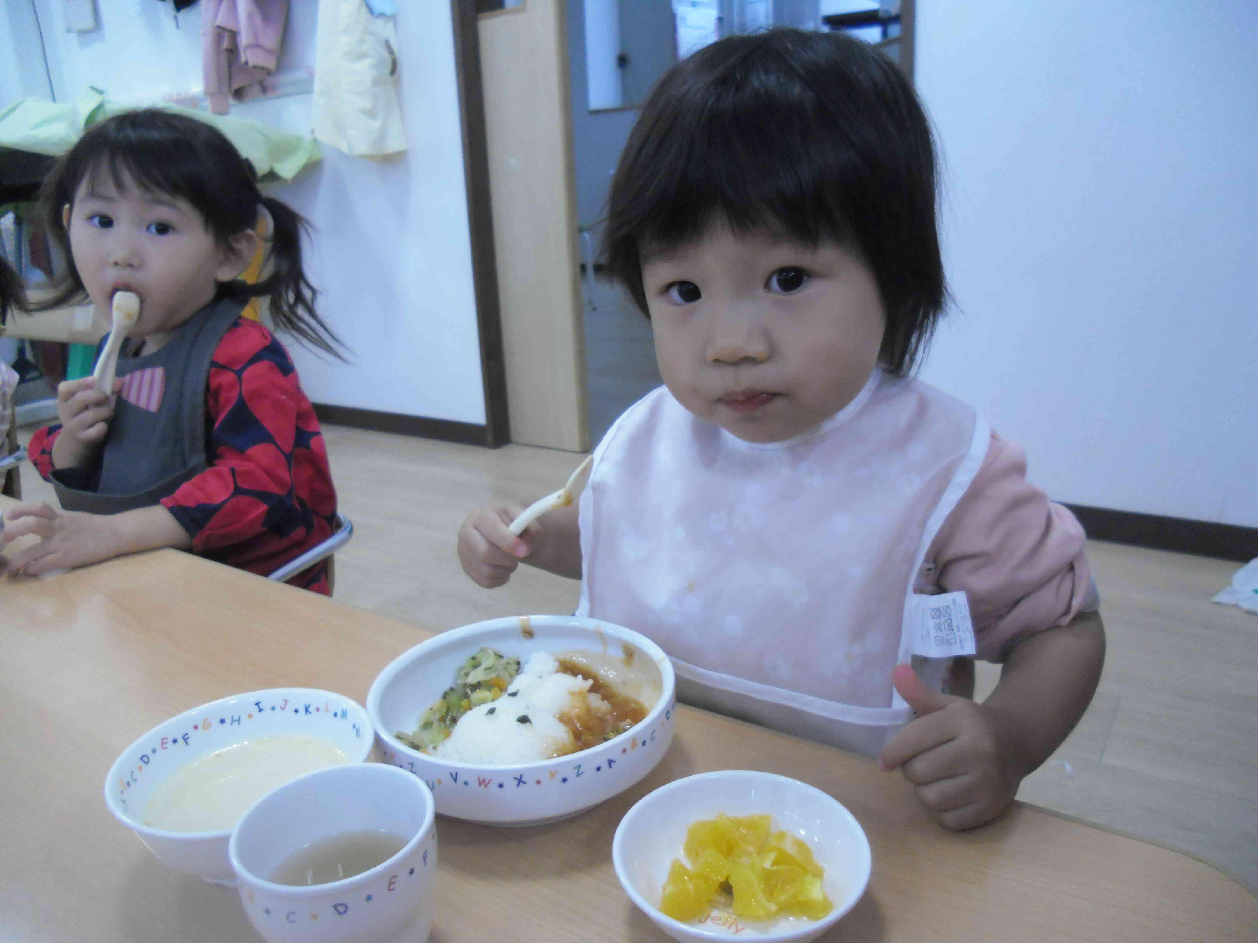
{"type": "Polygon", "coordinates": [[[263,196],[262,205],[270,214],[270,274],[249,285],[252,295],[270,297],[270,319],[277,328],[289,331],[307,343],[345,360],[337,346],[343,346],[332,329],[314,311],[318,292],[306,278],[302,268],[302,230],[307,223],[288,204],[273,196],[263,196]]]}

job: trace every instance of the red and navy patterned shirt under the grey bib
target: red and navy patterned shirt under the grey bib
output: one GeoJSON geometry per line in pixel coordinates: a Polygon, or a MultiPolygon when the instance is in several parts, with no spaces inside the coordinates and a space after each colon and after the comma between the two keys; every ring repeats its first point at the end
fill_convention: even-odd
{"type": "MultiPolygon", "coordinates": [[[[161,502],[192,552],[264,576],[327,539],[336,490],[323,434],[288,351],[258,322],[238,319],[215,348],[205,412],[210,468],[161,502]]],[[[30,440],[45,479],[59,433],[49,426],[30,440]]],[[[330,595],[327,561],[288,582],[330,595]]]]}

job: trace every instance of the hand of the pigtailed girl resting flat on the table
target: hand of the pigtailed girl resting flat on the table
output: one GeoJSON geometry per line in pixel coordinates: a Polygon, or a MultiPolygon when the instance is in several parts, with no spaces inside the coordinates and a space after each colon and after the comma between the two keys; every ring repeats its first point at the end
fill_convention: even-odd
{"type": "Polygon", "coordinates": [[[0,548],[28,534],[42,539],[9,560],[14,573],[39,576],[49,570],[81,567],[118,554],[108,516],[57,510],[43,502],[18,504],[6,514],[0,548]]]}

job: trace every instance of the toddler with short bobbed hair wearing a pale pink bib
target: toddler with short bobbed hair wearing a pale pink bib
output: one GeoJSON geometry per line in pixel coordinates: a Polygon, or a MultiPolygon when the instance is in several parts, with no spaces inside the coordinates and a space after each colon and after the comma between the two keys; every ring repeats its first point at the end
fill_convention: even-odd
{"type": "Polygon", "coordinates": [[[581,580],[678,698],[878,757],[945,826],[999,815],[1083,714],[1105,632],[1071,513],[974,409],[912,378],[946,298],[930,128],[840,35],[723,39],[652,93],[604,259],[664,386],[518,538],[474,510],[465,572],[581,580]],[[974,703],[972,658],[1003,664],[974,703]]]}

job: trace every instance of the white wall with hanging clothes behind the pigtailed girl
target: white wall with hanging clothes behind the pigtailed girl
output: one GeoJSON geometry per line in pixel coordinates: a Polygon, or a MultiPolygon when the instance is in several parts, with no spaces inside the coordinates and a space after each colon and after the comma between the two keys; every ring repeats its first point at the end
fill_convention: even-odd
{"type": "MultiPolygon", "coordinates": [[[[36,6],[59,101],[87,84],[122,101],[201,85],[199,6],[181,14],[176,29],[170,4],[97,0],[101,26],[84,34],[64,31],[59,3],[36,6]]],[[[314,0],[292,4],[281,72],[313,65],[316,11],[314,0]]],[[[479,424],[484,397],[449,4],[399,4],[398,31],[409,150],[362,160],[323,146],[321,163],[269,187],[314,225],[307,269],[352,363],[288,346],[317,402],[479,424]]],[[[25,39],[13,38],[24,58],[38,53],[25,39]]],[[[0,82],[5,75],[0,70],[0,82]]],[[[10,97],[19,96],[0,84],[0,107],[10,97]]],[[[293,96],[233,106],[233,114],[309,133],[311,103],[309,94],[293,96]]]]}

